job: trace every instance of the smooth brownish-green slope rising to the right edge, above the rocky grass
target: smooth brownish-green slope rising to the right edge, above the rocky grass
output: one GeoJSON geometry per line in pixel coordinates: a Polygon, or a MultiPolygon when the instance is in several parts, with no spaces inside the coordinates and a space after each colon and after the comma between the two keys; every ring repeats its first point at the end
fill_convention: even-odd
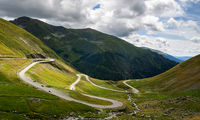
{"type": "Polygon", "coordinates": [[[178,93],[200,89],[200,55],[152,78],[137,80],[138,88],[178,93]]]}

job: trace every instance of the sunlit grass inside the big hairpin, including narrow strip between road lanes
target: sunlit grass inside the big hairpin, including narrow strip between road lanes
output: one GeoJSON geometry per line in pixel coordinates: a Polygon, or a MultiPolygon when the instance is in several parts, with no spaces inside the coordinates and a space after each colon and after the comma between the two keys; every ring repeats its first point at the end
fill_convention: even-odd
{"type": "Polygon", "coordinates": [[[61,67],[60,64],[54,64],[53,66],[49,64],[38,64],[31,68],[27,72],[27,74],[37,82],[40,82],[48,87],[54,87],[56,89],[62,90],[63,92],[65,92],[66,94],[68,93],[71,97],[75,99],[99,105],[111,104],[108,101],[93,99],[90,97],[83,96],[78,92],[70,91],[70,85],[76,81],[76,73],[78,72],[72,69],[72,71],[70,71],[68,70],[68,68],[70,67],[61,67]]]}

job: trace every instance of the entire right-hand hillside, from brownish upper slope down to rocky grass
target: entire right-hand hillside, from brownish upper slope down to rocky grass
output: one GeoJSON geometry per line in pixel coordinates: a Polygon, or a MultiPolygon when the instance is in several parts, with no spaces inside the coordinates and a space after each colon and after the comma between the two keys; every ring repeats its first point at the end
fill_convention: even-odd
{"type": "Polygon", "coordinates": [[[158,76],[133,80],[139,114],[154,119],[200,119],[200,55],[158,76]]]}

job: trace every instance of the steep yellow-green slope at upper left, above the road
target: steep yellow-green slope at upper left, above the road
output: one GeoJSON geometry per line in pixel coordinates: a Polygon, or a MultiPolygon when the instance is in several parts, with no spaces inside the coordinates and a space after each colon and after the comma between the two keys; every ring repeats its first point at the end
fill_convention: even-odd
{"type": "Polygon", "coordinates": [[[54,51],[24,29],[0,18],[0,56],[24,57],[32,53],[59,58],[54,51]]]}

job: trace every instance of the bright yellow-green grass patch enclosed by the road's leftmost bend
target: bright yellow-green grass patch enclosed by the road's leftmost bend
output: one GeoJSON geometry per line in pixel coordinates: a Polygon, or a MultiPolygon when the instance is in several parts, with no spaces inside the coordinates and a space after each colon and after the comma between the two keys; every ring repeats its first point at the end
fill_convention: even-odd
{"type": "Polygon", "coordinates": [[[76,81],[77,76],[75,73],[68,72],[66,70],[59,70],[49,64],[37,64],[31,68],[27,74],[32,77],[33,80],[56,88],[67,88],[76,81]]]}

